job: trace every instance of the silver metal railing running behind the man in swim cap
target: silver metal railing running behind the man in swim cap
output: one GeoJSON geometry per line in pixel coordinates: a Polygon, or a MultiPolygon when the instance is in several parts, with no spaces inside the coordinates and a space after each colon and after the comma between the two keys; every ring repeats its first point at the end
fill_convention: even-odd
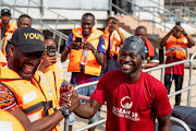
{"type": "MultiPolygon", "coordinates": [[[[174,96],[174,95],[177,95],[177,94],[181,94],[181,93],[187,91],[187,106],[191,106],[192,86],[196,85],[196,82],[192,82],[193,60],[194,60],[195,57],[196,57],[196,53],[193,53],[189,60],[182,60],[182,61],[177,61],[177,62],[173,62],[173,63],[169,63],[169,64],[158,66],[158,67],[155,67],[155,68],[146,69],[146,70],[144,70],[144,72],[150,72],[150,71],[155,71],[155,70],[161,69],[160,80],[161,80],[161,82],[163,83],[163,75],[162,75],[162,74],[163,74],[164,68],[169,68],[169,67],[173,67],[173,66],[176,66],[176,64],[189,62],[188,87],[185,87],[185,88],[182,88],[181,91],[171,93],[171,94],[168,95],[168,97],[171,97],[171,96],[174,96]]],[[[83,87],[90,86],[90,85],[96,85],[97,83],[98,83],[98,81],[89,82],[89,83],[85,83],[85,84],[81,84],[81,85],[75,86],[74,90],[83,88],[83,87]]],[[[88,97],[88,98],[89,98],[89,97],[88,97]]],[[[93,127],[95,127],[95,126],[105,123],[106,120],[107,120],[107,119],[101,119],[101,120],[99,120],[99,121],[97,121],[97,122],[95,122],[95,123],[88,124],[88,126],[83,127],[83,128],[81,128],[81,129],[76,129],[76,131],[84,131],[84,130],[90,129],[90,128],[93,128],[93,127]]],[[[175,122],[175,123],[179,124],[179,126],[181,126],[181,127],[184,128],[186,131],[191,131],[189,127],[188,127],[184,121],[182,121],[182,120],[180,120],[180,119],[177,119],[177,118],[173,118],[173,117],[171,117],[171,121],[172,121],[172,122],[175,122]]],[[[66,122],[68,122],[68,119],[66,119],[66,122]]],[[[65,128],[64,128],[64,129],[65,129],[65,128]]],[[[66,127],[66,129],[68,129],[68,127],[66,127]]],[[[68,131],[68,130],[64,130],[64,131],[68,131]]]]}

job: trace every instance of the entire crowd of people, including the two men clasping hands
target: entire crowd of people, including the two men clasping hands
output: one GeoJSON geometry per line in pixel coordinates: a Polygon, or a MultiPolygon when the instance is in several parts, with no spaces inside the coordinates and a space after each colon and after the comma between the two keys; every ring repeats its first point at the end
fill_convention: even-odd
{"type": "MultiPolygon", "coordinates": [[[[27,14],[22,14],[16,24],[10,20],[10,10],[2,9],[0,124],[9,123],[1,126],[4,130],[58,131],[65,118],[72,131],[75,115],[94,123],[107,102],[107,131],[151,131],[156,119],[159,131],[170,131],[172,108],[168,94],[173,80],[175,91],[182,88],[184,64],[167,68],[164,84],[143,72],[159,64],[145,26],[125,38],[115,17],[109,17],[105,31],[99,31],[94,28],[94,14],[83,14],[81,27],[72,29],[61,53],[61,62],[69,59],[68,71],[72,72],[71,84],[65,84],[56,40],[32,28],[27,14]],[[74,90],[94,81],[99,82],[74,90]],[[90,98],[84,102],[78,95],[90,98]]],[[[179,23],[160,41],[160,47],[167,49],[167,63],[186,59],[186,48],[194,45],[179,23]]],[[[175,106],[180,103],[181,94],[175,97],[175,106]]]]}

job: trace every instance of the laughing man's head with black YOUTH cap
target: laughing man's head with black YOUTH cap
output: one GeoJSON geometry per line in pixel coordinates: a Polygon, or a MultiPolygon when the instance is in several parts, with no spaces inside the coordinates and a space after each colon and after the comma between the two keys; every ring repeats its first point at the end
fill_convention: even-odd
{"type": "Polygon", "coordinates": [[[20,27],[12,36],[8,67],[25,80],[30,80],[45,50],[44,35],[32,27],[20,27]]]}

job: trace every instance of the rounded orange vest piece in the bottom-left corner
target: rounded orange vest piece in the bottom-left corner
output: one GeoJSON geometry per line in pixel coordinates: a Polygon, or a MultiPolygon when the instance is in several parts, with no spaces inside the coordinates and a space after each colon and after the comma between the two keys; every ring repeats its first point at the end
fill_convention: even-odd
{"type": "Polygon", "coordinates": [[[25,131],[22,123],[4,110],[0,110],[0,127],[2,131],[25,131]]]}

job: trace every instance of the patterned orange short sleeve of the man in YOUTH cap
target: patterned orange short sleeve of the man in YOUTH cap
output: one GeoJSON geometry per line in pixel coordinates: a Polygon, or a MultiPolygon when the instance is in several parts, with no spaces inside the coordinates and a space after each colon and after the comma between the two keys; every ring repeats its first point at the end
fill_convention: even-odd
{"type": "Polygon", "coordinates": [[[12,111],[17,108],[16,99],[11,91],[0,85],[0,109],[12,111]]]}

